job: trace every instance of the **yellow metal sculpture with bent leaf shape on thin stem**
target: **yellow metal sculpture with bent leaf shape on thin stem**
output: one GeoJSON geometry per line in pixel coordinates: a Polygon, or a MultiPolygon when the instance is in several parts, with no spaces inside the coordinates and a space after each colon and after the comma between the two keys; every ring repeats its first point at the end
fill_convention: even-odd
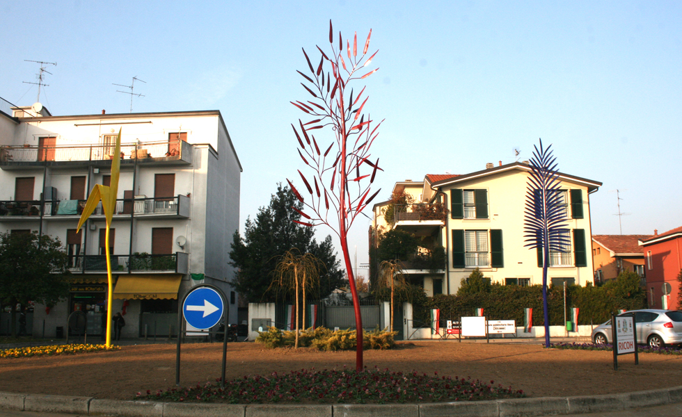
{"type": "Polygon", "coordinates": [[[113,161],[111,161],[111,183],[110,186],[102,186],[95,184],[93,191],[88,197],[88,202],[83,209],[81,219],[78,222],[76,233],[81,229],[81,226],[88,220],[90,215],[97,208],[97,204],[102,202],[102,209],[104,210],[104,217],[106,218],[106,234],[104,253],[106,254],[106,280],[109,284],[106,293],[106,347],[111,346],[111,299],[113,297],[113,283],[111,282],[111,254],[109,254],[109,227],[111,227],[111,218],[116,210],[116,195],[118,194],[118,174],[121,167],[121,131],[118,130],[118,137],[116,137],[116,148],[113,151],[113,161]]]}

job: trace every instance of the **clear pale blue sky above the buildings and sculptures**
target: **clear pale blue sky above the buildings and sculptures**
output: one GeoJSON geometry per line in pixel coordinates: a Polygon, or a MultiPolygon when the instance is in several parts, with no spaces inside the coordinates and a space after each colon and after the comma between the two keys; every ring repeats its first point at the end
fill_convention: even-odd
{"type": "MultiPolygon", "coordinates": [[[[530,159],[541,138],[562,172],[603,183],[593,234],[682,225],[678,1],[8,1],[0,97],[33,104],[25,82],[39,67],[25,60],[42,60],[57,63],[40,95],[53,115],[128,113],[127,89],[112,84],[134,76],[136,113],[221,111],[244,167],[243,231],[278,182],[302,186],[290,124],[304,114],[290,101],[307,99],[301,48],[319,59],[330,19],[344,39],[371,28],[379,49],[363,80],[364,110],[386,119],[374,202],[396,181],[514,162],[515,148],[530,159]]],[[[349,234],[358,264],[369,226],[358,218],[349,234]]]]}

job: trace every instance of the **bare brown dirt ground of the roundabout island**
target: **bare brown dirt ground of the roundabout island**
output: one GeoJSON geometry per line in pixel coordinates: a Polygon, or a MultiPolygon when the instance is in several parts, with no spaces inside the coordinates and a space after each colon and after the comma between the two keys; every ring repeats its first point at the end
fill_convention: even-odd
{"type": "MultiPolygon", "coordinates": [[[[128,345],[114,352],[75,356],[0,359],[0,391],[82,395],[128,400],[138,391],[175,384],[174,344],[128,345]]],[[[182,345],[180,385],[221,375],[222,344],[182,345]]],[[[365,366],[392,371],[471,377],[522,389],[530,397],[595,395],[681,385],[682,357],[544,349],[521,343],[398,342],[394,350],[365,351],[365,366]]],[[[267,350],[257,343],[228,343],[226,379],[274,371],[355,368],[355,352],[267,350]]]]}

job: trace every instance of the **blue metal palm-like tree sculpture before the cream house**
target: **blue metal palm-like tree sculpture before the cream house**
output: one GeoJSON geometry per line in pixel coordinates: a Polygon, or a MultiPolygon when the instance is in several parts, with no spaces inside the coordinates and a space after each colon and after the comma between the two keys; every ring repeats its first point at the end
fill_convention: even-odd
{"type": "Polygon", "coordinates": [[[549,313],[547,306],[547,267],[549,252],[566,252],[570,244],[566,229],[564,199],[560,193],[557,163],[550,148],[535,147],[530,159],[530,177],[525,202],[525,247],[542,250],[542,308],[545,322],[545,346],[549,347],[549,313]]]}

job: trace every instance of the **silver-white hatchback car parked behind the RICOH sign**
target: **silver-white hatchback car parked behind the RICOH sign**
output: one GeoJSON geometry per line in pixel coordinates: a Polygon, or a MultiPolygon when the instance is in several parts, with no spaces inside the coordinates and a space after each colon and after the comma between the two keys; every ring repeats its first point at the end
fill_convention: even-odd
{"type": "MultiPolygon", "coordinates": [[[[682,343],[682,311],[647,309],[631,310],[626,313],[635,313],[638,344],[663,347],[682,343]]],[[[612,343],[611,320],[592,330],[592,341],[597,345],[612,343]]]]}

